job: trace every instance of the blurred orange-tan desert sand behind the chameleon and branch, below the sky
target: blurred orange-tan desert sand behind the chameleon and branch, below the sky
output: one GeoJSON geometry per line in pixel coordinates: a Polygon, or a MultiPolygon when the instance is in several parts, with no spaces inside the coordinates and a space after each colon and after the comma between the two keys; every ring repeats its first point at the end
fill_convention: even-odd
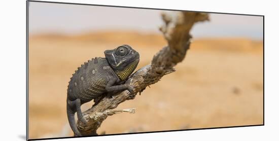
{"type": "MultiPolygon", "coordinates": [[[[83,62],[122,44],[140,53],[138,69],[149,64],[166,42],[161,34],[117,30],[30,36],[30,138],[72,136],[66,118],[69,78],[83,62]]],[[[98,133],[263,124],[262,41],[194,38],[176,69],[117,108],[136,108],[135,114],[108,117],[98,133]]]]}

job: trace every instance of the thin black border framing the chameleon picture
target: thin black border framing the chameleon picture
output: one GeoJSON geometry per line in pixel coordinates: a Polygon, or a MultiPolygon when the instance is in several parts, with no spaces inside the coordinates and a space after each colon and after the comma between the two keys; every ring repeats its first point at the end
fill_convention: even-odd
{"type": "Polygon", "coordinates": [[[27,0],[26,1],[26,140],[63,139],[63,138],[80,138],[80,137],[92,137],[92,136],[111,136],[111,135],[125,135],[125,134],[139,134],[139,133],[143,134],[143,133],[175,132],[175,131],[202,130],[202,129],[222,129],[222,128],[235,128],[235,127],[264,126],[264,15],[222,13],[222,12],[208,12],[208,11],[207,12],[205,12],[205,11],[190,11],[190,12],[203,12],[203,13],[213,13],[213,14],[228,14],[228,15],[263,17],[263,124],[227,126],[227,127],[210,127],[210,128],[193,128],[193,129],[181,129],[181,130],[148,131],[148,132],[134,132],[134,133],[117,133],[117,134],[103,134],[103,135],[90,135],[90,136],[65,136],[65,137],[31,138],[31,139],[29,139],[29,2],[51,3],[51,4],[67,4],[67,5],[84,5],[84,6],[100,6],[100,7],[117,7],[117,8],[133,8],[133,9],[149,9],[149,10],[166,10],[166,11],[190,11],[190,10],[175,10],[175,9],[159,9],[159,8],[127,7],[127,6],[78,4],[78,3],[64,3],[64,2],[48,2],[48,1],[27,0]]]}

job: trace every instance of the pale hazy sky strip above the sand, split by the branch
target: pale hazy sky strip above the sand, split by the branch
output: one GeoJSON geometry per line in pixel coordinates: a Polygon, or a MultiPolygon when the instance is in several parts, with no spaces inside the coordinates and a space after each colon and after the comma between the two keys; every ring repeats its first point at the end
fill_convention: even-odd
{"type": "MultiPolygon", "coordinates": [[[[158,27],[162,24],[161,12],[149,9],[30,2],[29,32],[75,34],[103,29],[126,29],[159,33],[158,27]]],[[[230,14],[210,16],[210,22],[198,23],[193,27],[193,37],[263,39],[263,17],[230,14]]]]}

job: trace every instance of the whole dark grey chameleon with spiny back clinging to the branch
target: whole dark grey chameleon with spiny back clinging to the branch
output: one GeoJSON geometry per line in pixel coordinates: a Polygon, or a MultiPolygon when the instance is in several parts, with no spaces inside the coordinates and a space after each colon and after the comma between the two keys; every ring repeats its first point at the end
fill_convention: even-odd
{"type": "Polygon", "coordinates": [[[67,118],[75,136],[81,136],[75,122],[75,113],[81,122],[86,122],[81,112],[82,104],[120,90],[133,93],[127,80],[140,61],[140,54],[129,45],[122,45],[104,51],[104,56],[82,64],[68,83],[67,118]]]}

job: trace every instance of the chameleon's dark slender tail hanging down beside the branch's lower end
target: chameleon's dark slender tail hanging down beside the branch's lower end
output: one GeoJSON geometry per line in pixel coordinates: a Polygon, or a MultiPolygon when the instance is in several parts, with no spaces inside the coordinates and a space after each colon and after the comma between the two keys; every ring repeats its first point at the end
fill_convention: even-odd
{"type": "Polygon", "coordinates": [[[67,117],[68,117],[69,125],[74,131],[75,136],[81,136],[81,133],[76,125],[75,113],[76,111],[73,110],[67,103],[67,117]]]}

